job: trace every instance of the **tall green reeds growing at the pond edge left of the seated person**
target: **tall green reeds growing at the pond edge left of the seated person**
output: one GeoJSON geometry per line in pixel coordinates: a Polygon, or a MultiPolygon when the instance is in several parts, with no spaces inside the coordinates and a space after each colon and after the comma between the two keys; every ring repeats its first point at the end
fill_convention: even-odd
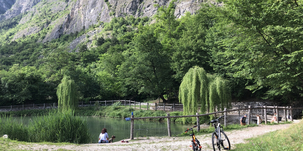
{"type": "Polygon", "coordinates": [[[7,118],[5,121],[0,118],[0,135],[7,134],[10,139],[26,142],[92,142],[87,120],[74,115],[74,111],[52,111],[48,115],[34,117],[28,125],[13,117],[4,117],[7,118]]]}

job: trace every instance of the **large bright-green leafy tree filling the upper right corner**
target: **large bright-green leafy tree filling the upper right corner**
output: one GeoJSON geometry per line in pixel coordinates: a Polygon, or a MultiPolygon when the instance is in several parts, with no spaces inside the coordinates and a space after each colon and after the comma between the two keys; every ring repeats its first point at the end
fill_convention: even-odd
{"type": "Polygon", "coordinates": [[[213,31],[222,35],[217,44],[223,51],[217,52],[224,68],[231,67],[234,77],[253,80],[249,90],[268,88],[265,98],[290,100],[302,93],[301,2],[229,0],[214,9],[218,21],[213,31]]]}

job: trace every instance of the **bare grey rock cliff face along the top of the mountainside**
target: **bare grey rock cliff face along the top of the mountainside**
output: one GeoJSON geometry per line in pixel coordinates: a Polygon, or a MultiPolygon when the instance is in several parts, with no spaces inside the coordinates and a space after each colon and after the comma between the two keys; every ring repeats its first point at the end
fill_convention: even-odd
{"type": "MultiPolygon", "coordinates": [[[[1,2],[3,0],[0,0],[1,2]]],[[[171,0],[16,0],[11,9],[2,14],[0,20],[11,18],[20,13],[28,12],[19,24],[29,24],[34,22],[33,16],[41,13],[38,7],[51,7],[51,13],[57,13],[57,18],[43,21],[43,25],[31,24],[24,27],[15,34],[14,39],[23,34],[30,35],[38,33],[44,28],[49,28],[43,42],[58,38],[61,34],[69,34],[80,31],[83,27],[88,28],[92,24],[100,21],[109,22],[112,17],[133,15],[135,17],[153,16],[157,8],[169,5],[171,0]],[[53,5],[49,5],[52,3],[53,5]],[[61,15],[60,13],[61,12],[61,15]],[[63,12],[63,13],[62,13],[63,12]],[[33,32],[33,33],[32,33],[33,32]]],[[[201,0],[179,0],[176,2],[175,15],[180,18],[185,12],[194,13],[200,8],[201,0]]],[[[44,12],[45,13],[45,12],[44,12]]],[[[43,17],[43,15],[39,15],[43,17]]]]}

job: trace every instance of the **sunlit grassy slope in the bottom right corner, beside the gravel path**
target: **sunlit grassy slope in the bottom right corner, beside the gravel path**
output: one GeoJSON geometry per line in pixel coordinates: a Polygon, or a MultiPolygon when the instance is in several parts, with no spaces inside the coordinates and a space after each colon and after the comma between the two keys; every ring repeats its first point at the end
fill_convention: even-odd
{"type": "Polygon", "coordinates": [[[236,144],[233,151],[302,151],[303,150],[303,120],[292,124],[289,128],[273,131],[256,138],[247,139],[247,143],[236,144]]]}

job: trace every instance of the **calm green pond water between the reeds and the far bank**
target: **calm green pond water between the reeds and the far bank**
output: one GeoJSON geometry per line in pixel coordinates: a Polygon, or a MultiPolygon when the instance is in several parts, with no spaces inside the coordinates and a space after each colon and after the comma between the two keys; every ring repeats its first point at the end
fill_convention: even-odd
{"type": "MultiPolygon", "coordinates": [[[[17,117],[17,119],[20,117],[17,117]]],[[[88,128],[91,132],[92,142],[97,143],[98,137],[103,128],[107,129],[109,138],[115,135],[113,142],[130,138],[130,121],[122,118],[108,117],[85,117],[88,121],[88,128]]],[[[22,117],[26,124],[33,117],[22,117]]],[[[187,128],[193,125],[184,125],[181,123],[170,123],[171,135],[183,133],[187,128]]],[[[167,122],[134,120],[134,139],[146,136],[168,136],[167,122]]]]}

